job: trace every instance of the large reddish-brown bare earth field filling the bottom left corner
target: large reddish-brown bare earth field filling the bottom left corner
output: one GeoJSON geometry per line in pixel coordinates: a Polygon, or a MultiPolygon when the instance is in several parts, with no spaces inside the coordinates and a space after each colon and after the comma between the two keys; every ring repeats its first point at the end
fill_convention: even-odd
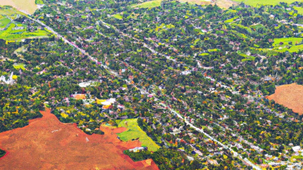
{"type": "Polygon", "coordinates": [[[43,117],[28,126],[0,133],[0,148],[8,152],[0,159],[1,170],[158,169],[152,160],[134,162],[123,154],[141,146],[139,141],[117,139],[124,128],[100,127],[105,135],[87,135],[76,124],[59,122],[49,109],[41,113],[43,117]]]}

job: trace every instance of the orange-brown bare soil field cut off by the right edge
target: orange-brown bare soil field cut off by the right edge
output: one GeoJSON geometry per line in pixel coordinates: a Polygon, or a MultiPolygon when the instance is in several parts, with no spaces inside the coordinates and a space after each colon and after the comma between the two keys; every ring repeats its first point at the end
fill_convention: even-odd
{"type": "Polygon", "coordinates": [[[286,84],[276,87],[275,93],[266,97],[268,100],[275,100],[293,112],[303,114],[303,86],[297,83],[286,84]]]}

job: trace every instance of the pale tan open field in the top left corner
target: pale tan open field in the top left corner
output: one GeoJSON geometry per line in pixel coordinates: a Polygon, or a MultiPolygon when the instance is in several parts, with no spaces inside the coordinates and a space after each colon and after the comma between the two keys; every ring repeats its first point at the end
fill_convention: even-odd
{"type": "Polygon", "coordinates": [[[27,14],[33,14],[38,9],[35,0],[1,0],[0,5],[10,5],[27,14]]]}

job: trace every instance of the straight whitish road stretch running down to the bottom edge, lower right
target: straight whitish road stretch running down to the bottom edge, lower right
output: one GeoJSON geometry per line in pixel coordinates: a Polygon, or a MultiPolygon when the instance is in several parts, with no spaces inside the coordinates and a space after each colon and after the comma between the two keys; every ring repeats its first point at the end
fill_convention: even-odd
{"type": "Polygon", "coordinates": [[[196,126],[194,126],[193,124],[189,123],[186,119],[183,118],[182,115],[180,115],[179,113],[177,113],[175,110],[172,110],[170,107],[168,107],[167,105],[163,104],[163,103],[159,103],[159,105],[167,107],[172,113],[174,113],[175,115],[177,115],[180,119],[183,119],[184,122],[186,124],[188,124],[190,127],[194,128],[196,131],[204,134],[205,136],[207,136],[209,139],[211,139],[212,141],[217,142],[219,145],[221,145],[223,148],[230,150],[231,153],[233,153],[234,157],[237,157],[238,159],[240,159],[241,161],[243,161],[244,163],[252,166],[253,168],[255,168],[256,170],[262,170],[260,167],[258,167],[257,165],[253,164],[252,162],[250,162],[247,158],[242,158],[241,155],[239,155],[237,152],[233,151],[230,147],[224,145],[223,143],[219,142],[217,139],[213,138],[212,136],[210,136],[209,134],[205,133],[202,129],[197,128],[196,126]]]}

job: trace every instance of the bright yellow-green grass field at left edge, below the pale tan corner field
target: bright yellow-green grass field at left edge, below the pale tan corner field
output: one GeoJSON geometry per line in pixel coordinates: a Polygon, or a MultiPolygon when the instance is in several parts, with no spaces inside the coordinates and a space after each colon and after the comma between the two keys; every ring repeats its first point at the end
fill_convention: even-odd
{"type": "Polygon", "coordinates": [[[2,37],[2,39],[6,40],[7,42],[14,42],[14,41],[21,41],[22,39],[25,38],[48,37],[49,34],[47,31],[40,29],[34,32],[27,32],[25,26],[24,29],[21,30],[13,30],[13,28],[15,28],[15,24],[11,23],[6,30],[0,31],[0,37],[2,37]]]}

